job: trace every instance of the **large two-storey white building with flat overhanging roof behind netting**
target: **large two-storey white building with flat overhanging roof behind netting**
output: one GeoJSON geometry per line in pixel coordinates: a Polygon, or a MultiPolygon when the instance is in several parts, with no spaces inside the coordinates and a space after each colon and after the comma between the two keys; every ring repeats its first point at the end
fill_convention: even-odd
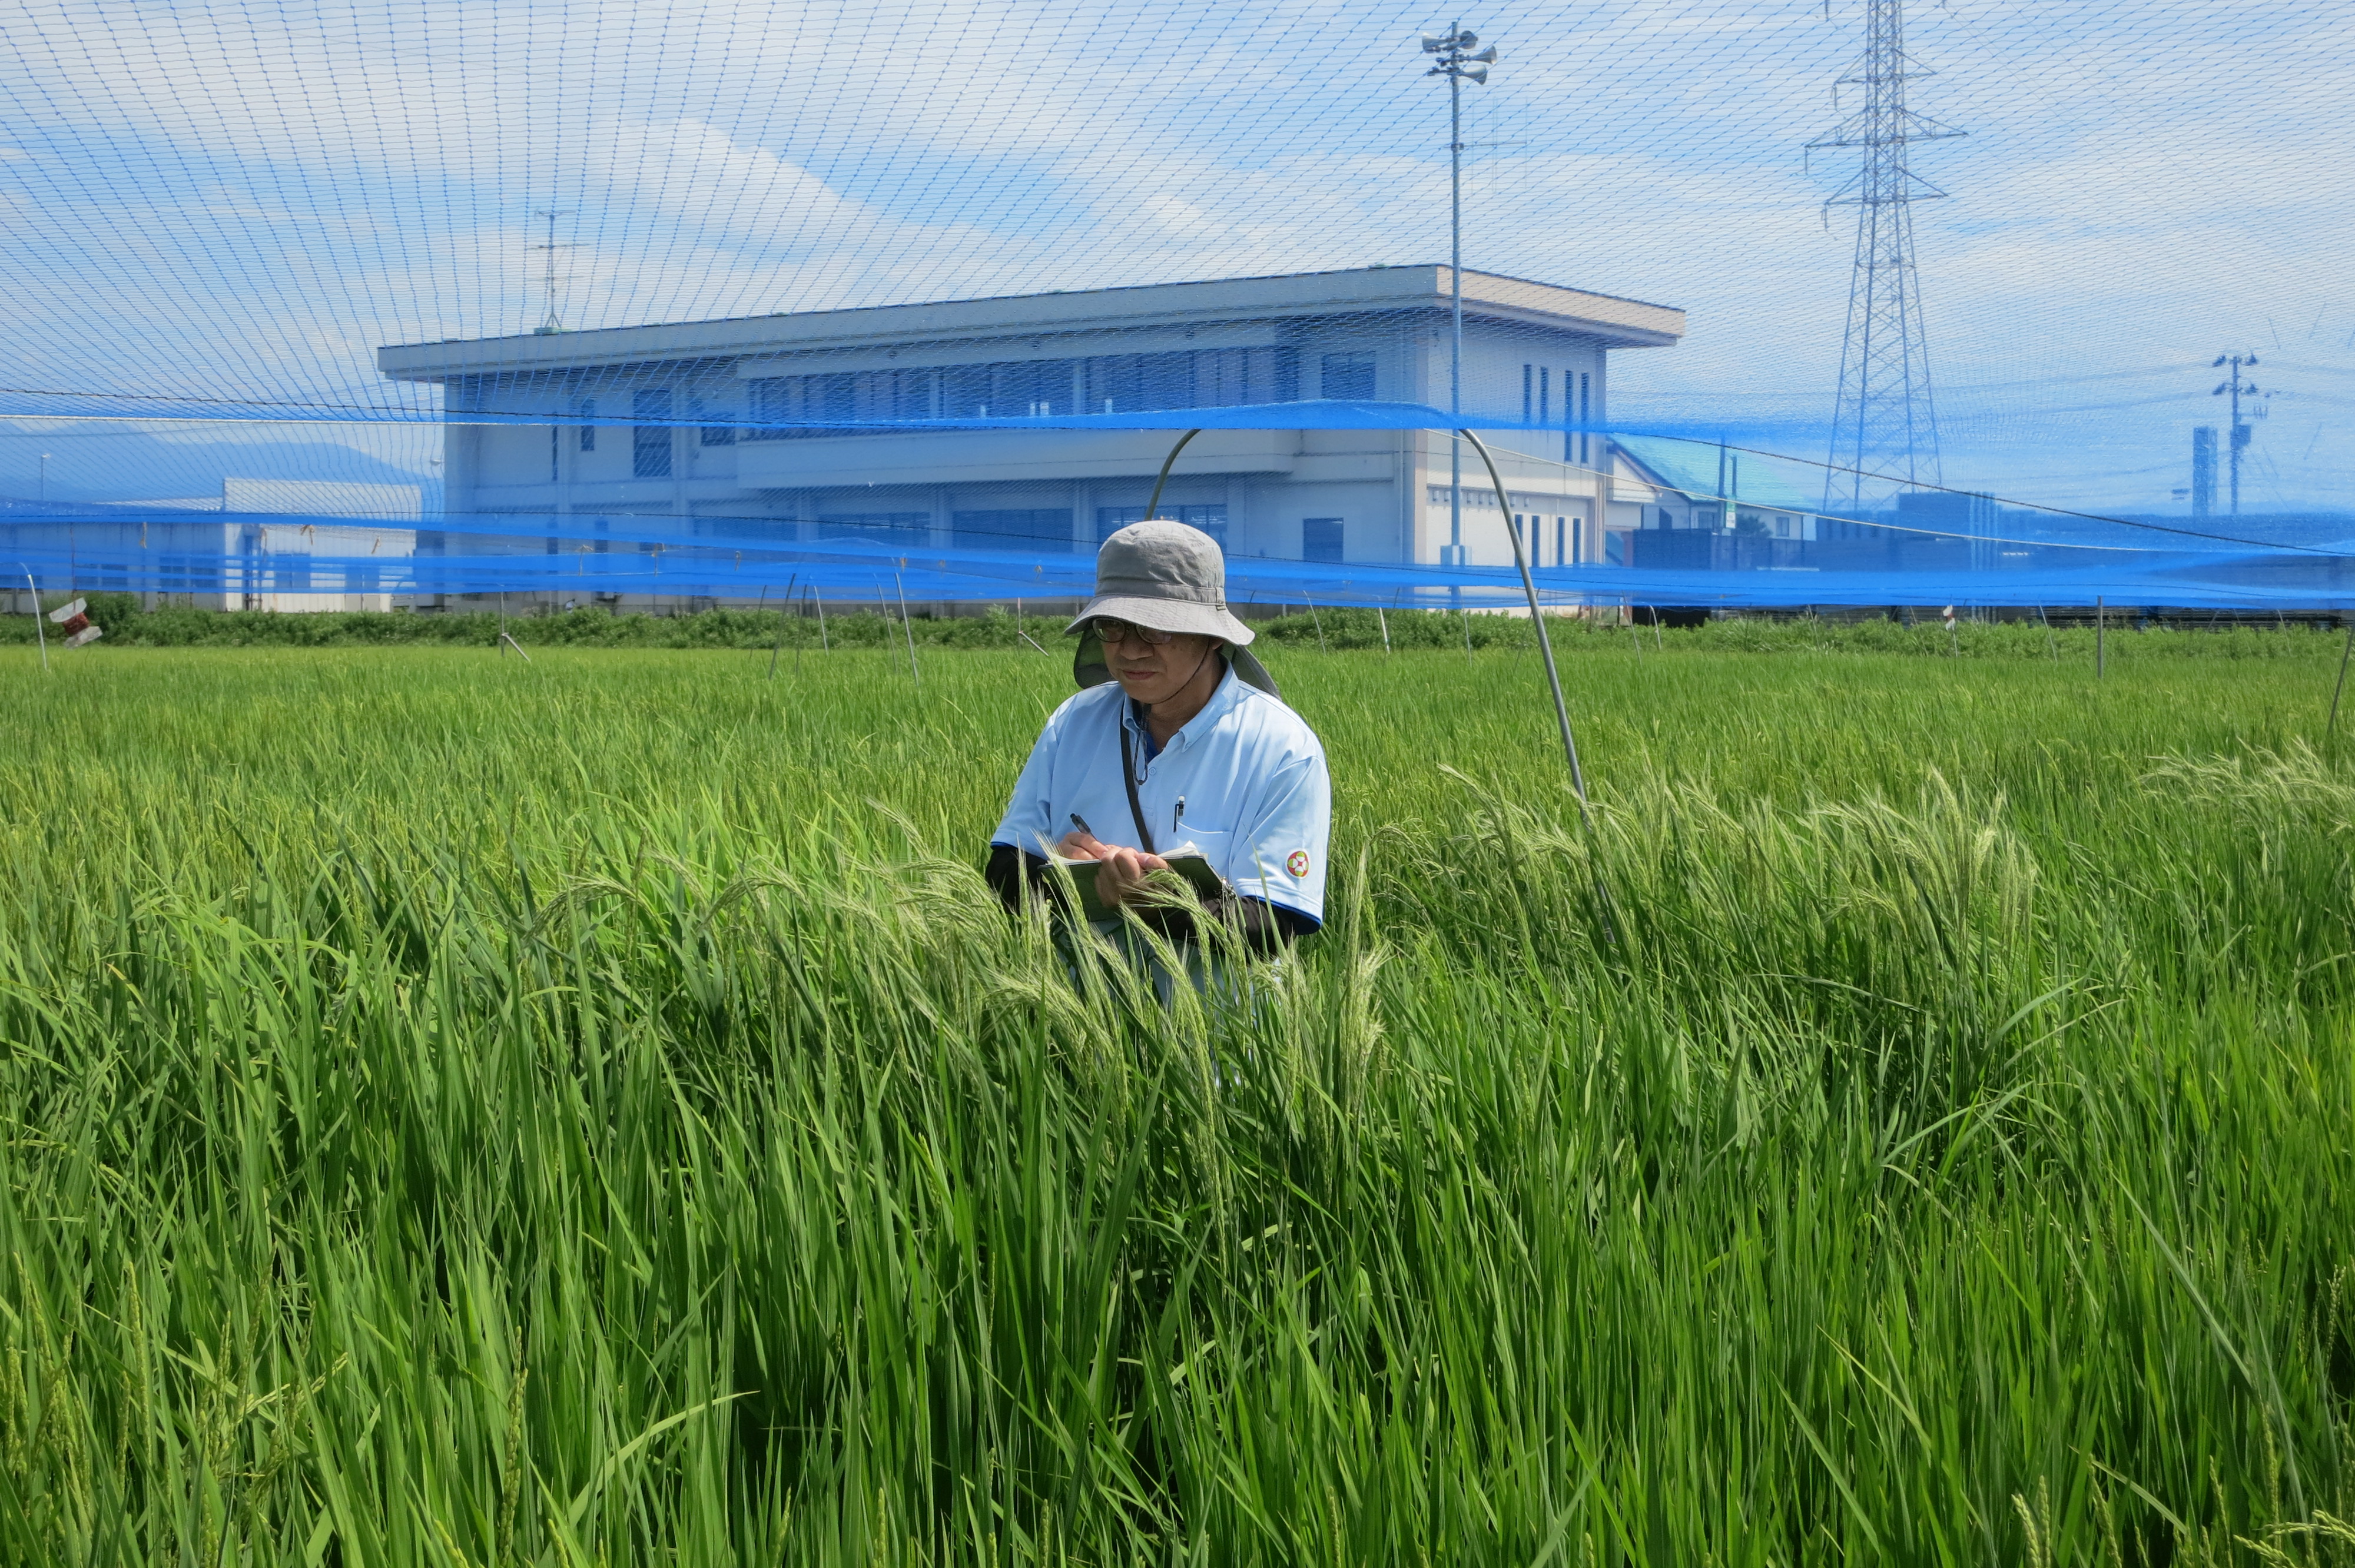
{"type": "MultiPolygon", "coordinates": [[[[1293,400],[1448,405],[1444,266],[1234,278],[949,304],[808,311],[382,348],[445,398],[445,504],[487,516],[676,518],[683,534],[1093,551],[1145,513],[1168,431],[864,431],[829,419],[1168,412],[1293,400]],[[469,412],[549,424],[469,424],[469,412]],[[596,426],[586,419],[629,419],[596,426]],[[761,428],[791,421],[820,428],[761,428]]],[[[1462,407],[1606,419],[1608,351],[1670,346],[1684,313],[1465,273],[1462,407]]],[[[1507,504],[1465,450],[1472,565],[1604,558],[1599,436],[1484,428],[1507,504]]],[[[1229,553],[1439,563],[1441,431],[1203,431],[1161,511],[1229,553]]],[[[431,551],[431,534],[422,544],[431,551]]],[[[450,549],[466,549],[452,530],[450,549]]]]}

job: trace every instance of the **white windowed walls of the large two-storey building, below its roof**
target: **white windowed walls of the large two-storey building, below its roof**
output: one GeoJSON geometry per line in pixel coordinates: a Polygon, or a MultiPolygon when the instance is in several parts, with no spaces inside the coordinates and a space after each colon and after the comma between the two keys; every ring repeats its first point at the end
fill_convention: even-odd
{"type": "MultiPolygon", "coordinates": [[[[1604,360],[1601,341],[1587,334],[1467,320],[1465,403],[1519,412],[1526,384],[1533,421],[1564,419],[1578,414],[1583,386],[1585,414],[1601,421],[1604,360]],[[1564,398],[1571,403],[1564,405],[1564,398]]],[[[697,532],[763,525],[796,542],[815,539],[827,527],[888,527],[893,537],[921,537],[935,549],[994,539],[1003,549],[1093,551],[1107,509],[1145,506],[1187,410],[1168,410],[1170,431],[796,431],[775,438],[747,431],[744,421],[763,412],[822,419],[827,410],[853,419],[954,417],[984,396],[991,403],[1010,398],[1017,412],[1072,412],[1112,396],[1121,412],[1123,391],[1152,386],[1154,374],[1163,381],[1192,374],[1196,386],[1227,377],[1258,396],[1267,391],[1255,377],[1281,377],[1283,393],[1295,398],[1371,396],[1444,407],[1448,332],[1429,313],[1137,325],[732,358],[706,348],[681,363],[485,377],[450,393],[447,506],[455,513],[509,516],[676,516],[697,532]],[[1194,356],[1185,360],[1192,370],[1170,372],[1170,365],[1182,365],[1173,356],[1194,356]],[[648,454],[657,452],[645,445],[652,438],[624,421],[645,407],[645,396],[664,393],[676,428],[659,436],[669,473],[652,476],[645,473],[648,454]],[[556,424],[464,424],[462,412],[478,407],[546,412],[556,424]],[[617,424],[586,426],[584,414],[617,424]],[[593,431],[586,445],[584,431],[593,431]],[[999,513],[1006,523],[984,527],[973,523],[975,513],[999,513]],[[1036,513],[1062,513],[1062,523],[1039,532],[1050,523],[1036,513]],[[961,516],[968,518],[963,527],[961,516]]],[[[1545,518],[1540,563],[1557,563],[1557,534],[1568,542],[1573,560],[1597,560],[1604,443],[1519,426],[1481,436],[1500,461],[1512,464],[1507,487],[1521,497],[1521,516],[1545,518]]],[[[1225,509],[1225,544],[1239,556],[1302,558],[1312,549],[1335,549],[1338,539],[1342,560],[1434,563],[1448,542],[1446,478],[1444,433],[1203,431],[1178,459],[1163,511],[1208,518],[1225,509]],[[1432,485],[1439,485],[1437,504],[1432,485]]],[[[1470,450],[1465,490],[1491,492],[1470,450]]],[[[1467,506],[1467,560],[1510,563],[1510,509],[1500,511],[1493,501],[1467,506]]]]}

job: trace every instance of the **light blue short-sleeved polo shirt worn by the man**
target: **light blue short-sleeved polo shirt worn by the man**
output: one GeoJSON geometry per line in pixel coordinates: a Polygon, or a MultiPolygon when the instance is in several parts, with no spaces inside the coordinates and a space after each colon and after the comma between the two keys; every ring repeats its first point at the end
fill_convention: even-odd
{"type": "Polygon", "coordinates": [[[1324,925],[1326,836],[1333,831],[1324,744],[1298,713],[1232,669],[1201,713],[1152,758],[1152,737],[1119,680],[1064,702],[1039,732],[989,843],[1046,855],[1076,815],[1104,843],[1142,850],[1121,786],[1123,727],[1154,848],[1192,841],[1243,897],[1324,925]]]}

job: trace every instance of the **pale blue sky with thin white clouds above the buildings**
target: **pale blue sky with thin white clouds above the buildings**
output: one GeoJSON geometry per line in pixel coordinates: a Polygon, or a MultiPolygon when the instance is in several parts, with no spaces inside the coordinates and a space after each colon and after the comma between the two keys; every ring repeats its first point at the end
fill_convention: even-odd
{"type": "MultiPolygon", "coordinates": [[[[1439,261],[1455,21],[1465,264],[1689,313],[1613,419],[1825,457],[1863,0],[19,0],[0,487],[89,393],[426,471],[374,348],[537,325],[544,212],[568,327],[1439,261]]],[[[1941,478],[2181,513],[2254,351],[2244,504],[2355,509],[2355,0],[1912,0],[1908,49],[1966,132],[1915,148],[1941,478]]]]}

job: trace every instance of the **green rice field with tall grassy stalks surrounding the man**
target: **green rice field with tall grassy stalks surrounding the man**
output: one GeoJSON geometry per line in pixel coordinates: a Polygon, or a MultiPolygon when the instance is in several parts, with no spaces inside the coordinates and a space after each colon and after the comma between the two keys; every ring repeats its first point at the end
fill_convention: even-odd
{"type": "Polygon", "coordinates": [[[2336,638],[1302,619],[1173,1010],[1029,650],[0,650],[0,1561],[2355,1561],[2336,638]]]}

